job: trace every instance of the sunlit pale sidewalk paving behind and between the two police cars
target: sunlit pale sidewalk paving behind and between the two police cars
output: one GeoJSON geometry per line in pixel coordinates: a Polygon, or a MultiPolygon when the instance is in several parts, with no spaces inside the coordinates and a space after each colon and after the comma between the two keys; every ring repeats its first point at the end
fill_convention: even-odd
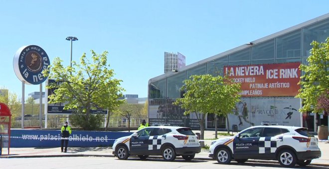
{"type": "MultiPolygon", "coordinates": [[[[194,131],[195,133],[199,131],[194,131]]],[[[204,142],[205,145],[210,145],[215,138],[214,131],[205,131],[204,142]]],[[[218,136],[218,138],[227,136],[218,136]]],[[[60,146],[60,145],[58,145],[60,146]]],[[[311,166],[325,166],[329,167],[329,141],[320,140],[319,147],[322,156],[319,159],[312,160],[311,166]]],[[[200,153],[196,154],[195,160],[212,160],[208,157],[209,150],[202,149],[200,153]]],[[[60,147],[57,148],[10,148],[8,155],[7,148],[2,148],[2,155],[0,158],[44,158],[44,157],[109,157],[114,158],[112,155],[112,147],[69,147],[67,153],[60,152],[60,147]]],[[[162,158],[161,156],[151,156],[150,158],[162,158]]],[[[177,157],[176,159],[181,159],[177,157]]],[[[262,160],[249,160],[255,163],[278,163],[277,161],[262,161],[262,160]]]]}

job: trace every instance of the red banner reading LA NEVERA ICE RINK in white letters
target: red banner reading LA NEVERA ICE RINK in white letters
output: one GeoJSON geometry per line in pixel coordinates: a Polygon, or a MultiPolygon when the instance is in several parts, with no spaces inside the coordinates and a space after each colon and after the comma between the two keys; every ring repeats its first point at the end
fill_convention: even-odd
{"type": "Polygon", "coordinates": [[[241,95],[295,96],[300,85],[301,63],[224,66],[233,82],[241,83],[241,95]]]}

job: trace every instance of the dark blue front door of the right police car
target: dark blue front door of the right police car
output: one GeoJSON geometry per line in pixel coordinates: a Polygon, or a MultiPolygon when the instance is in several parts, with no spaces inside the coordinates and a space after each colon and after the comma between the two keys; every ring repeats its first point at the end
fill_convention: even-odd
{"type": "Polygon", "coordinates": [[[263,127],[248,129],[239,133],[233,140],[233,155],[235,159],[251,159],[259,153],[259,136],[263,127]]]}

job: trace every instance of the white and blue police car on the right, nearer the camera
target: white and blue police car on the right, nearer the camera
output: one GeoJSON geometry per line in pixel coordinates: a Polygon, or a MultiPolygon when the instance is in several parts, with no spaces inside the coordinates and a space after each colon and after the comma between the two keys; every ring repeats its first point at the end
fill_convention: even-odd
{"type": "Polygon", "coordinates": [[[284,167],[307,166],[320,158],[318,139],[307,128],[292,126],[254,126],[237,135],[215,140],[209,157],[219,164],[232,159],[244,163],[248,159],[278,160],[284,167]]]}

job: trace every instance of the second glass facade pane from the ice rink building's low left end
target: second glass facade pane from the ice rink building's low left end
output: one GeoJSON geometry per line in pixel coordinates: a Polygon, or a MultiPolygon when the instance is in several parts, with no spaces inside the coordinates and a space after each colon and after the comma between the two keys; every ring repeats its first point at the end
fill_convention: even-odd
{"type": "Polygon", "coordinates": [[[180,98],[182,93],[180,88],[185,80],[185,71],[167,78],[167,98],[180,98]]]}

